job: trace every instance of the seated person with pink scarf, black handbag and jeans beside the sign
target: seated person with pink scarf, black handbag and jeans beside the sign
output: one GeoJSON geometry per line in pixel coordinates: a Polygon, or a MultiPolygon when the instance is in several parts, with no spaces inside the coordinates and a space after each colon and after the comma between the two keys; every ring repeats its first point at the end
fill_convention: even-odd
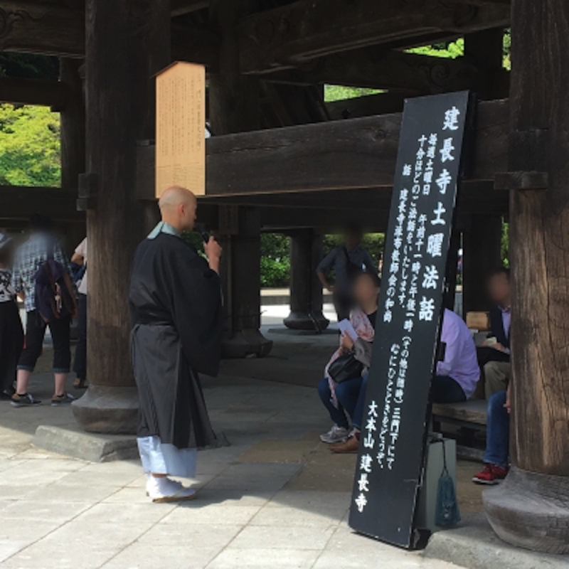
{"type": "Polygon", "coordinates": [[[350,322],[358,334],[354,343],[349,336],[342,334],[340,347],[331,357],[324,371],[325,377],[318,385],[318,393],[334,422],[331,430],[320,436],[322,442],[341,442],[348,438],[350,419],[354,415],[356,403],[363,383],[362,374],[353,379],[336,383],[328,373],[330,364],[344,353],[353,352],[354,357],[363,363],[365,373],[371,363],[371,344],[375,334],[378,310],[380,280],[373,272],[362,272],[353,282],[353,294],[357,307],[350,314],[350,322]]]}

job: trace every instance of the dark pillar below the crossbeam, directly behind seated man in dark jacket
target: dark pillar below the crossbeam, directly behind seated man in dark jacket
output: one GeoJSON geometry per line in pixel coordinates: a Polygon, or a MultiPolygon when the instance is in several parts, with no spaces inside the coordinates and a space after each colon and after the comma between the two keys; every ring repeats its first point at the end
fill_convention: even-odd
{"type": "Polygon", "coordinates": [[[473,215],[462,243],[462,303],[464,314],[489,310],[486,280],[501,266],[502,218],[473,215]]]}

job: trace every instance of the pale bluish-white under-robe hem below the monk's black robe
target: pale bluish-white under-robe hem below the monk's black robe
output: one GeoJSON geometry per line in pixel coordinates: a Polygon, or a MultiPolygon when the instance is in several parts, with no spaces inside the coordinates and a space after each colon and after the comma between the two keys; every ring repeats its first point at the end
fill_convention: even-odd
{"type": "Polygon", "coordinates": [[[147,474],[168,474],[181,478],[196,477],[198,453],[196,449],[179,449],[162,444],[160,437],[137,439],[142,468],[147,474]]]}

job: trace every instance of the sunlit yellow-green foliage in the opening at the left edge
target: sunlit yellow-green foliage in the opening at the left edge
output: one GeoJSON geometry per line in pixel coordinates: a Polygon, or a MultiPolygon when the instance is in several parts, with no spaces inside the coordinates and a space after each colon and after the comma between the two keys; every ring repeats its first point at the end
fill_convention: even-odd
{"type": "Polygon", "coordinates": [[[0,184],[59,186],[59,130],[48,107],[0,105],[0,184]]]}

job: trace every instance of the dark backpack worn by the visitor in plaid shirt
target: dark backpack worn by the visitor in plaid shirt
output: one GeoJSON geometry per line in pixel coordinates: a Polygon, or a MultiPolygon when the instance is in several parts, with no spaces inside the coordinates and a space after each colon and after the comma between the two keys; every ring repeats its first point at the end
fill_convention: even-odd
{"type": "Polygon", "coordinates": [[[34,275],[36,310],[43,321],[70,317],[75,312],[75,299],[71,288],[67,267],[48,255],[48,260],[39,267],[34,275]]]}

